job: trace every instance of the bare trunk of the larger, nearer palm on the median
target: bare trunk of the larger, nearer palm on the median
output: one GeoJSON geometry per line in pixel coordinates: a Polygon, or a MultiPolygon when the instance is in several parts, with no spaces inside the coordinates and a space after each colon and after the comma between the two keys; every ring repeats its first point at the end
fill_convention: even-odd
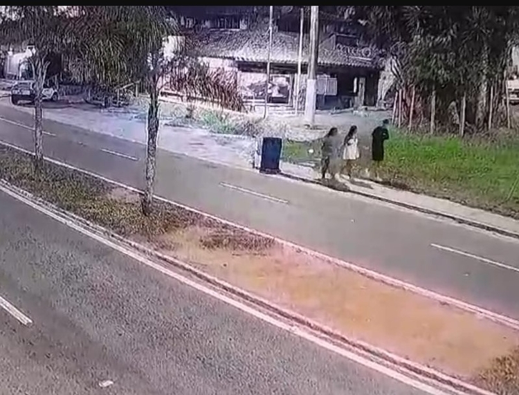
{"type": "Polygon", "coordinates": [[[145,171],[145,190],[141,203],[143,214],[149,215],[153,210],[153,187],[155,181],[156,151],[158,136],[158,79],[156,76],[150,77],[149,84],[149,108],[147,118],[147,150],[146,150],[146,171],[145,171]]]}

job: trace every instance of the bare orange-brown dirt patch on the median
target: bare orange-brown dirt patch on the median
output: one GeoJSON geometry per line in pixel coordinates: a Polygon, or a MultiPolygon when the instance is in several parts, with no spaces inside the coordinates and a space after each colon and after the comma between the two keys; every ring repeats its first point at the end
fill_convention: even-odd
{"type": "Polygon", "coordinates": [[[519,333],[381,284],[275,242],[263,249],[206,248],[204,228],[155,244],[230,284],[400,356],[463,378],[519,345],[519,333]]]}

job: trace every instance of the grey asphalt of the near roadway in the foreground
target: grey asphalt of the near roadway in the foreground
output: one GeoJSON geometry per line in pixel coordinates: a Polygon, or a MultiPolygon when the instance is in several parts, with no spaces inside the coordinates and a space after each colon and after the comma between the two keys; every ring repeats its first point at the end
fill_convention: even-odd
{"type": "Polygon", "coordinates": [[[0,394],[424,395],[2,192],[0,208],[0,298],[33,321],[0,309],[0,394]]]}

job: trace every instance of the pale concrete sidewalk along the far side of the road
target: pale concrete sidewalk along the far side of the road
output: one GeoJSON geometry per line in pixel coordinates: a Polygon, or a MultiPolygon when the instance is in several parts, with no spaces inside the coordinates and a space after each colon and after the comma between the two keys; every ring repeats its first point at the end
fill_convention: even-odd
{"type": "MultiPolygon", "coordinates": [[[[24,113],[33,112],[29,107],[14,107],[7,100],[1,100],[0,105],[24,113]]],[[[86,111],[80,108],[44,109],[44,118],[65,125],[81,125],[84,129],[125,140],[142,144],[146,142],[145,122],[143,117],[136,113],[92,109],[86,111]]],[[[165,121],[158,138],[161,149],[249,171],[252,171],[251,154],[254,144],[254,140],[246,136],[226,136],[211,134],[203,129],[172,127],[165,121]]],[[[320,184],[320,175],[311,167],[282,163],[281,169],[282,174],[288,178],[320,184]]],[[[509,217],[470,208],[446,199],[395,190],[367,180],[346,185],[349,192],[361,196],[519,239],[519,221],[509,217]]]]}

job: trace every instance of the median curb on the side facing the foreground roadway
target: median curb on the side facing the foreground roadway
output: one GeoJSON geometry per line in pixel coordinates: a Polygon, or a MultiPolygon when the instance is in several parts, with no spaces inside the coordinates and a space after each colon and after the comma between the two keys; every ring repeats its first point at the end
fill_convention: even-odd
{"type": "Polygon", "coordinates": [[[354,351],[356,351],[357,353],[367,354],[371,358],[382,360],[386,364],[393,365],[400,369],[405,369],[411,374],[418,375],[421,378],[425,378],[428,380],[433,380],[436,383],[446,385],[450,387],[450,389],[454,389],[458,392],[463,392],[464,394],[495,395],[493,394],[493,392],[486,391],[485,389],[476,387],[475,385],[471,385],[452,376],[448,376],[446,374],[441,373],[440,371],[437,371],[425,365],[420,365],[410,360],[406,360],[406,358],[397,356],[393,353],[380,349],[379,347],[370,345],[369,343],[347,338],[343,334],[334,331],[334,329],[325,327],[324,325],[310,320],[309,318],[306,318],[303,315],[300,315],[299,313],[295,313],[294,311],[291,311],[289,309],[284,309],[280,306],[277,306],[277,304],[273,304],[260,296],[254,295],[253,293],[249,293],[248,291],[244,291],[242,288],[233,286],[228,282],[218,279],[217,277],[213,277],[212,275],[203,273],[203,271],[194,268],[194,266],[184,261],[164,255],[161,252],[147,248],[135,241],[131,241],[129,239],[126,239],[125,237],[121,237],[120,235],[117,235],[116,233],[112,232],[107,228],[98,226],[97,224],[83,219],[78,215],[73,214],[72,212],[68,212],[57,207],[57,205],[48,203],[47,201],[44,201],[43,199],[38,198],[30,192],[22,190],[21,188],[16,187],[15,185],[10,184],[3,179],[0,179],[0,186],[3,187],[3,189],[8,190],[11,194],[20,196],[22,199],[26,199],[26,201],[30,201],[30,203],[38,205],[39,207],[44,208],[48,212],[52,212],[57,217],[62,217],[63,219],[67,219],[68,221],[75,222],[77,226],[81,226],[86,230],[89,230],[89,232],[98,235],[99,237],[112,239],[112,241],[115,241],[116,243],[121,244],[122,246],[126,246],[127,248],[132,248],[137,252],[146,255],[147,257],[158,259],[159,261],[163,261],[167,264],[170,264],[175,268],[188,272],[190,273],[190,275],[197,277],[203,282],[215,286],[216,288],[219,288],[220,290],[225,291],[226,293],[230,293],[231,295],[234,295],[239,299],[245,300],[246,302],[260,307],[261,309],[270,311],[271,313],[274,313],[275,315],[278,315],[281,318],[284,318],[295,324],[299,324],[300,326],[306,329],[319,333],[320,335],[325,336],[330,340],[340,342],[340,344],[342,344],[343,346],[347,346],[351,349],[354,349],[354,351]]]}

